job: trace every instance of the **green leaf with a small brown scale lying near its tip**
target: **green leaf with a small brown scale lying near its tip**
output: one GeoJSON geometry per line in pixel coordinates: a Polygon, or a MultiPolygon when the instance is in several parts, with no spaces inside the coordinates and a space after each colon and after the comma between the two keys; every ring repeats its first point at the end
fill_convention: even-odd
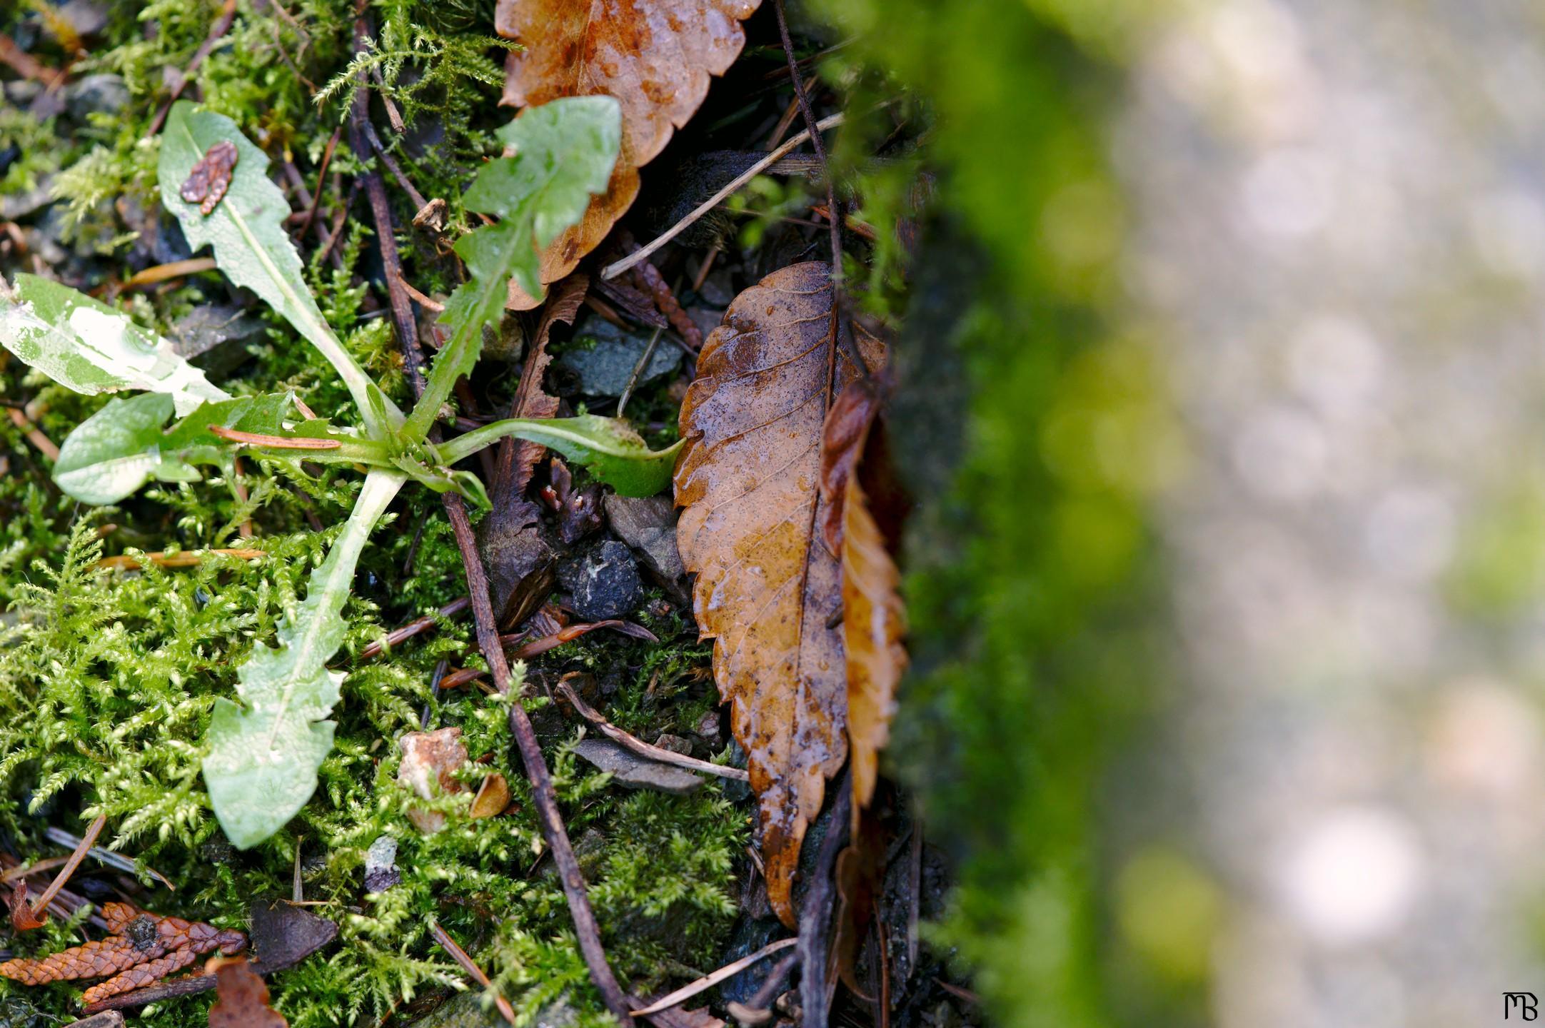
{"type": "Polygon", "coordinates": [[[371,382],[317,309],[301,275],[300,254],[284,230],[289,203],[280,187],[269,181],[267,165],[267,155],[241,134],[236,122],[178,100],[171,105],[171,116],[161,138],[161,206],[182,223],[188,246],[195,250],[213,246],[215,261],[230,281],[263,297],[332,362],[338,377],[349,386],[365,424],[371,425],[377,437],[385,436],[402,424],[402,411],[371,382]],[[226,196],[205,215],[199,204],[182,199],[179,189],[193,165],[216,142],[236,147],[236,167],[226,196]],[[385,420],[379,414],[382,408],[386,410],[385,420]]]}

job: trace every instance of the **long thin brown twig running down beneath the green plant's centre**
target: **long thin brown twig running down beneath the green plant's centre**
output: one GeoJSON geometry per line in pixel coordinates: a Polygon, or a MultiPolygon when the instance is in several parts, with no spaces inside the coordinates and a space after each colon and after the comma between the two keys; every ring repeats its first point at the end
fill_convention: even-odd
{"type": "MultiPolygon", "coordinates": [[[[365,34],[363,17],[355,20],[354,31],[355,40],[360,40],[365,34]]],[[[423,356],[419,351],[413,309],[408,303],[408,294],[402,288],[402,267],[397,261],[397,247],[385,246],[386,240],[392,238],[391,212],[385,209],[375,210],[372,204],[372,213],[379,218],[375,238],[383,244],[382,260],[386,263],[386,288],[389,292],[402,297],[402,303],[399,303],[397,295],[394,295],[391,308],[399,342],[403,348],[403,362],[409,368],[408,380],[413,385],[414,396],[422,396],[423,376],[419,368],[423,363],[423,356]]],[[[488,669],[493,671],[494,686],[501,694],[508,696],[513,688],[510,663],[505,660],[504,646],[499,645],[499,628],[494,621],[493,603],[488,600],[488,575],[484,570],[482,557],[477,553],[477,541],[473,538],[473,526],[467,518],[467,505],[457,493],[443,493],[440,501],[445,505],[447,518],[451,521],[451,530],[456,533],[456,547],[460,550],[462,564],[467,569],[467,591],[471,595],[473,621],[477,626],[477,646],[482,649],[484,660],[488,662],[488,669]]],[[[616,975],[612,974],[612,968],[606,962],[606,951],[601,948],[601,929],[595,921],[595,912],[590,909],[584,875],[579,870],[579,861],[575,858],[573,847],[569,844],[569,833],[564,830],[562,816],[558,813],[553,779],[547,771],[547,762],[542,759],[542,748],[536,742],[531,719],[527,717],[525,708],[521,706],[518,697],[510,703],[510,731],[514,734],[516,748],[521,751],[525,774],[531,781],[531,795],[536,801],[542,836],[553,853],[553,863],[558,864],[564,897],[569,900],[569,914],[575,923],[575,937],[579,941],[579,952],[584,955],[586,966],[590,969],[590,979],[596,991],[601,992],[607,1009],[623,1023],[627,1023],[632,1003],[629,1003],[627,994],[623,992],[623,986],[618,985],[616,975]]]]}

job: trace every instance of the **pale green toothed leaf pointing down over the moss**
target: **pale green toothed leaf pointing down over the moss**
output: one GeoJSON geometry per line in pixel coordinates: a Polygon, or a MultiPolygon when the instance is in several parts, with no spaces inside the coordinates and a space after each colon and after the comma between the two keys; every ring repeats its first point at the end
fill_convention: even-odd
{"type": "Polygon", "coordinates": [[[328,560],[311,574],[306,600],[286,617],[278,648],[255,646],[236,671],[243,706],[215,700],[204,784],[215,816],[238,849],[278,832],[317,790],[317,768],[332,750],[343,672],[328,660],[343,642],[343,601],[371,529],[405,476],[371,471],[328,560]]]}

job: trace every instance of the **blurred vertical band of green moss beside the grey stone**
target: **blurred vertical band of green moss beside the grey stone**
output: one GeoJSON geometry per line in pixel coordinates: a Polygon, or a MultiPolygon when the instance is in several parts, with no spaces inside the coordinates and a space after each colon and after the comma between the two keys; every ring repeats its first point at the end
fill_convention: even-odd
{"type": "MultiPolygon", "coordinates": [[[[1170,1008],[1112,1000],[1134,943],[1105,901],[1102,835],[1114,747],[1153,683],[1145,504],[1180,456],[1156,354],[1122,320],[1126,215],[1103,136],[1148,5],[816,6],[854,40],[840,60],[888,76],[927,125],[933,204],[890,422],[919,501],[904,553],[915,663],[891,759],[930,842],[958,860],[933,940],[1003,1025],[1170,1008]]],[[[862,117],[845,131],[876,134],[862,117]]],[[[895,210],[896,186],[879,187],[868,210],[895,210]]],[[[1180,988],[1194,999],[1204,985],[1180,988]]]]}

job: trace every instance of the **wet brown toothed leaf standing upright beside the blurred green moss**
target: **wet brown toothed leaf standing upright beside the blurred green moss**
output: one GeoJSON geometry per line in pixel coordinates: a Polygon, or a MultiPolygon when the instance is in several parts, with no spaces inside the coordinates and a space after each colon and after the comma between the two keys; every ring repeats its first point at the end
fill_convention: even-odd
{"type": "Polygon", "coordinates": [[[686,447],[677,541],[697,572],[694,612],[714,638],[757,791],[768,900],[793,926],[793,881],[825,781],[847,756],[837,560],[820,541],[820,437],[837,390],[859,377],[833,335],[827,264],[746,289],[698,357],[681,405],[686,447]]]}

